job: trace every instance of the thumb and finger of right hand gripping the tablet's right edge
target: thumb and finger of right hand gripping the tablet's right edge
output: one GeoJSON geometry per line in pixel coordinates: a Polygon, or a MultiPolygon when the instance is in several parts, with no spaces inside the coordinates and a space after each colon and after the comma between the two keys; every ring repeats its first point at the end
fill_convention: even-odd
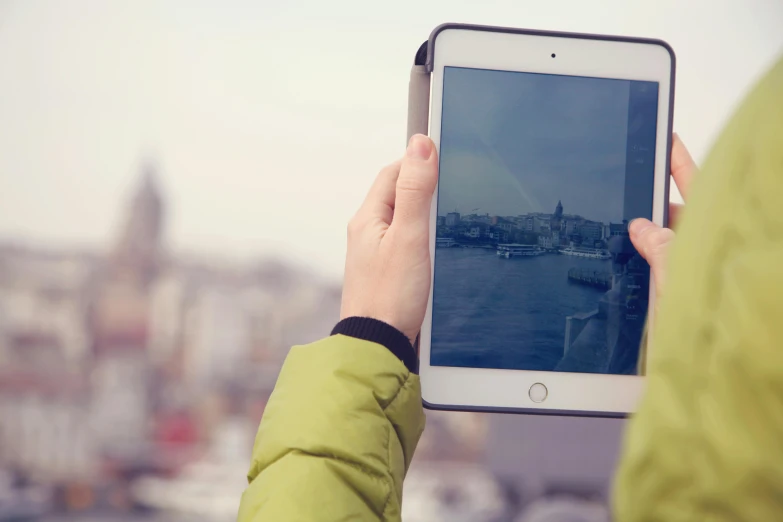
{"type": "MultiPolygon", "coordinates": [[[[691,182],[697,168],[688,149],[677,134],[672,139],[672,177],[683,200],[688,200],[691,182]]],[[[673,227],[682,211],[682,205],[669,205],[669,224],[673,227]]],[[[631,241],[639,254],[649,263],[655,280],[656,301],[663,295],[666,284],[666,260],[674,239],[670,228],[663,228],[647,219],[634,219],[628,227],[631,241]]]]}

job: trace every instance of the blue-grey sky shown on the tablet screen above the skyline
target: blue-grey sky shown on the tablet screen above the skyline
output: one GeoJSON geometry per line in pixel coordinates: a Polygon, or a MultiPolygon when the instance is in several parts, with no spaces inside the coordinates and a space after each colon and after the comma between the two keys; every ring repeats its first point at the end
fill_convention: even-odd
{"type": "Polygon", "coordinates": [[[449,68],[438,212],[623,219],[630,82],[449,68]]]}

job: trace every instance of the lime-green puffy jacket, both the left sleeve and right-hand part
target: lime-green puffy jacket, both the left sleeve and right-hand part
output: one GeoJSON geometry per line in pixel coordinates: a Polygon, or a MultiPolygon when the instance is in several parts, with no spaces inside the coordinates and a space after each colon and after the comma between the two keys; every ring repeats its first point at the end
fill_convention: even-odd
{"type": "MultiPolygon", "coordinates": [[[[783,62],[692,192],[616,518],[783,520],[783,62]]],[[[293,348],[258,430],[239,521],[400,520],[423,428],[419,378],[391,348],[346,335],[293,348]]]]}

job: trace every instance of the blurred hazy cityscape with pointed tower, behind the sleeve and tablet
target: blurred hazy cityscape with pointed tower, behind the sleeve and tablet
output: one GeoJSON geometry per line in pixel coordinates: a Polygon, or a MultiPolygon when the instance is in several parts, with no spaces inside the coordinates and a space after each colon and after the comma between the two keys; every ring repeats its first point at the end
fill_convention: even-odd
{"type": "MultiPolygon", "coordinates": [[[[303,269],[170,251],[141,170],[104,250],[0,243],[0,521],[233,520],[288,348],[337,320],[339,285],[303,269]]],[[[542,507],[504,475],[492,419],[429,412],[405,520],[606,520],[600,480],[542,507]]]]}

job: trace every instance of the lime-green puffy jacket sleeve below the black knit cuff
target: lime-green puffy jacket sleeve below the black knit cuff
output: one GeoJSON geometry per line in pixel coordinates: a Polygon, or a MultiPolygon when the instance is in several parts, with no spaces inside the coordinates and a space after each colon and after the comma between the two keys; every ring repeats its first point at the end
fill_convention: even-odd
{"type": "Polygon", "coordinates": [[[239,522],[399,521],[424,413],[418,375],[379,344],[291,349],[258,429],[239,522]]]}

